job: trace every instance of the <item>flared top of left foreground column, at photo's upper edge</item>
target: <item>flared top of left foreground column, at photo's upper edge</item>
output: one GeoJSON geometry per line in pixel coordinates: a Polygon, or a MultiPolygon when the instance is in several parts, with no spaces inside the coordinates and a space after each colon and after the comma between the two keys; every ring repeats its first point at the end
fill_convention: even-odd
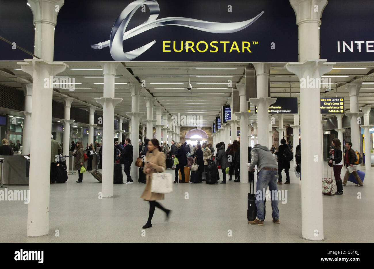
{"type": "Polygon", "coordinates": [[[38,22],[52,24],[56,26],[58,10],[64,5],[64,0],[28,0],[31,12],[33,12],[34,25],[38,22]]]}

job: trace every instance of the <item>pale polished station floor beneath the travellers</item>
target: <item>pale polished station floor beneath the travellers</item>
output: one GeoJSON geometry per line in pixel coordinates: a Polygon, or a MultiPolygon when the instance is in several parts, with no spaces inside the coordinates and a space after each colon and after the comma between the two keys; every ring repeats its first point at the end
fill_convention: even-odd
{"type": "MultiPolygon", "coordinates": [[[[291,164],[292,167],[292,164],[291,164]]],[[[327,174],[325,164],[325,175],[327,174]]],[[[343,168],[344,169],[344,168],[343,168]]],[[[174,173],[174,170],[168,170],[174,173]]],[[[342,176],[344,171],[342,171],[342,176]]],[[[348,182],[344,195],[323,196],[325,243],[374,242],[374,170],[366,171],[363,187],[348,182]],[[362,199],[358,199],[361,192],[362,199]]],[[[283,172],[283,176],[285,174],[283,172]]],[[[145,184],[114,185],[114,197],[98,199],[101,183],[89,173],[83,183],[69,175],[65,184],[50,185],[49,235],[26,236],[27,204],[0,201],[0,242],[294,242],[308,243],[301,235],[301,183],[290,170],[287,203],[279,202],[281,224],[273,224],[266,202],[264,226],[247,224],[249,184],[174,184],[161,201],[172,209],[169,222],[156,208],[153,227],[142,232],[148,218],[148,202],[140,195],[145,184]],[[188,199],[185,199],[188,195],[188,199]],[[58,230],[59,236],[56,236],[58,230]],[[228,236],[231,230],[232,236],[228,236]]],[[[220,175],[222,178],[222,175],[220,175]]],[[[125,179],[124,174],[124,179],[125,179]]],[[[285,179],[285,178],[284,178],[285,179]]],[[[312,179],[309,179],[312,180],[312,179]]],[[[6,186],[27,190],[28,186],[6,186]]]]}

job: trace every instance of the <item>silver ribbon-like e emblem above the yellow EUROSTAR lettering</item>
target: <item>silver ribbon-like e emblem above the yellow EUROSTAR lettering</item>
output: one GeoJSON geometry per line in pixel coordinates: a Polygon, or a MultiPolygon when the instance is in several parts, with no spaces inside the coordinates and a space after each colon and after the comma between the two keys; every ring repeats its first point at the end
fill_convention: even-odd
{"type": "MultiPolygon", "coordinates": [[[[110,33],[110,40],[105,42],[99,42],[91,45],[93,49],[101,49],[109,46],[110,54],[115,61],[131,61],[147,51],[151,46],[156,43],[156,40],[149,42],[148,44],[134,49],[132,51],[123,51],[123,41],[131,37],[137,36],[144,31],[165,25],[177,25],[188,28],[193,28],[199,31],[205,31],[209,33],[235,33],[243,30],[252,23],[254,23],[264,13],[263,11],[252,19],[240,22],[211,22],[201,21],[199,19],[183,18],[183,17],[168,17],[157,19],[160,13],[160,6],[156,0],[137,0],[131,2],[118,16],[116,22],[114,22],[112,31],[110,33]],[[129,24],[130,19],[134,13],[142,6],[147,5],[150,10],[150,16],[147,21],[141,25],[126,31],[126,27],[129,24]]],[[[244,49],[243,49],[244,50],[244,49]]]]}

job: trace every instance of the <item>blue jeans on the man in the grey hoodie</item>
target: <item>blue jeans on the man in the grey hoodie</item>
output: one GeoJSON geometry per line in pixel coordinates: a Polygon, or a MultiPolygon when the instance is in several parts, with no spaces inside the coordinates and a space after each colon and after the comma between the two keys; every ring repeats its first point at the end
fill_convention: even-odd
{"type": "Polygon", "coordinates": [[[256,206],[257,206],[257,218],[260,221],[264,221],[264,209],[265,209],[265,194],[263,189],[266,190],[269,185],[270,196],[273,198],[273,191],[275,191],[275,200],[272,199],[272,217],[275,220],[279,219],[278,209],[278,171],[260,170],[258,172],[258,180],[256,184],[256,206]]]}

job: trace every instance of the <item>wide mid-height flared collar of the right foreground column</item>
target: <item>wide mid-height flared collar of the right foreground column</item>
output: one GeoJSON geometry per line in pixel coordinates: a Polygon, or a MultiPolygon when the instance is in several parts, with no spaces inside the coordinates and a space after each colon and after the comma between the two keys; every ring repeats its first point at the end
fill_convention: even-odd
{"type": "MultiPolygon", "coordinates": [[[[305,79],[305,74],[312,74],[310,78],[320,78],[322,75],[330,72],[335,64],[335,62],[328,62],[326,59],[309,59],[302,62],[289,62],[286,63],[285,67],[289,72],[294,73],[301,82],[301,79],[305,79]]],[[[309,81],[304,81],[304,83],[306,85],[302,87],[301,83],[300,88],[313,88],[309,87],[309,81]]],[[[315,84],[314,88],[319,88],[319,84],[313,84],[315,84]]]]}

